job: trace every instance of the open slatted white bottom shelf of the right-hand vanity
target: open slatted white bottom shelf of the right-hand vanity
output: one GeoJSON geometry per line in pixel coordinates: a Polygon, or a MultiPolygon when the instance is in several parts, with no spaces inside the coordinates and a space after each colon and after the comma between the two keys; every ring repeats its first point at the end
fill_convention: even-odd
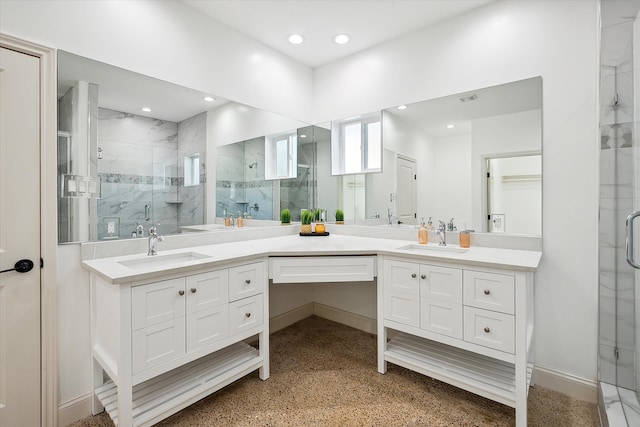
{"type": "Polygon", "coordinates": [[[515,365],[425,338],[398,333],[386,361],[515,407],[515,365]]]}

